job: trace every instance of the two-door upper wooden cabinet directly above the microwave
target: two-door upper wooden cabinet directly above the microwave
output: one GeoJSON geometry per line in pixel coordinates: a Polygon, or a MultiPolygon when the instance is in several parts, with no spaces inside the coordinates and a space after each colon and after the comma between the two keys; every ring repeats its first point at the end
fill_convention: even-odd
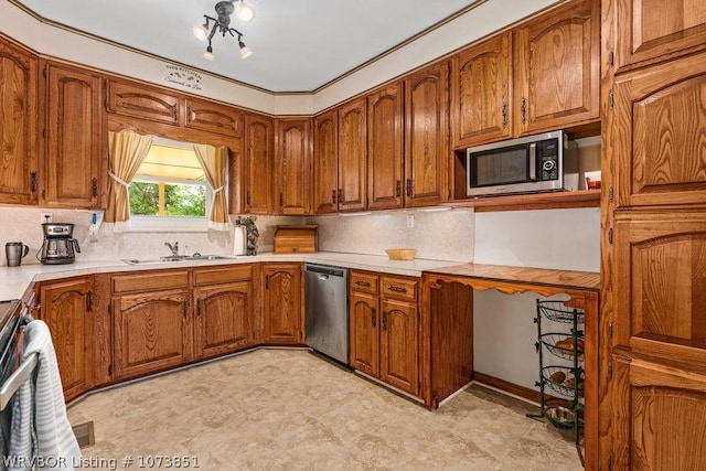
{"type": "Polygon", "coordinates": [[[575,0],[457,54],[453,148],[598,121],[599,7],[575,0]]]}

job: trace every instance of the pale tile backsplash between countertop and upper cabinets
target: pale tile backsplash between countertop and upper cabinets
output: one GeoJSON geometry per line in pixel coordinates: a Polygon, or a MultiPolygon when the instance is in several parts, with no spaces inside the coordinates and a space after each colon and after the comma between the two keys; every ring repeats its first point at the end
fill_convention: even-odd
{"type": "MultiPolygon", "coordinates": [[[[22,242],[30,247],[22,265],[39,264],[43,233],[41,213],[53,213],[54,223],[73,223],[81,254],[76,260],[146,258],[169,255],[165,242],[179,240],[180,251],[231,254],[233,232],[129,232],[109,233],[101,228],[92,239],[88,227],[93,211],[0,207],[0,245],[22,242]]],[[[100,213],[99,213],[100,214],[100,213]]],[[[101,214],[100,214],[101,215],[101,214]]],[[[232,216],[235,221],[236,216],[232,216]]],[[[473,212],[453,210],[439,213],[420,211],[379,212],[360,216],[257,216],[258,251],[271,251],[277,225],[318,224],[319,250],[385,255],[386,248],[416,248],[417,258],[470,261],[473,258],[473,212]],[[408,217],[414,226],[408,227],[408,217]]],[[[7,265],[4,256],[0,265],[7,265]]]]}

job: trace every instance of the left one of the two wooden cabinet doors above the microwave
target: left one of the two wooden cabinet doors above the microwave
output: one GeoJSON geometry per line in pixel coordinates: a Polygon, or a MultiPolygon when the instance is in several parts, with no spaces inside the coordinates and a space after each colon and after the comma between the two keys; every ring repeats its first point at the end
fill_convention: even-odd
{"type": "Polygon", "coordinates": [[[453,148],[512,136],[510,43],[510,33],[504,33],[453,56],[453,148]]]}

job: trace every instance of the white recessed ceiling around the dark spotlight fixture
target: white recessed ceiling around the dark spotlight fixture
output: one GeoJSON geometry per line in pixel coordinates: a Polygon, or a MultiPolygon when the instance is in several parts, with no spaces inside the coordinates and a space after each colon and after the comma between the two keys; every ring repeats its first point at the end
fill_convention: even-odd
{"type": "MultiPolygon", "coordinates": [[[[213,38],[215,61],[192,28],[216,18],[217,0],[11,0],[41,20],[68,26],[169,62],[274,93],[314,92],[439,22],[485,0],[246,0],[247,23],[232,17],[237,38],[213,38]]],[[[239,0],[235,0],[236,4],[239,0]]]]}

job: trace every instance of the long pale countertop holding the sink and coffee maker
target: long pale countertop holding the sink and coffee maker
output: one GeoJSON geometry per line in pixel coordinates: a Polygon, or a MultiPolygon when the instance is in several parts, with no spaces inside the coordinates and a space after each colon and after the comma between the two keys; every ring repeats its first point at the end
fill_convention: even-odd
{"type": "Polygon", "coordinates": [[[303,261],[322,265],[334,265],[359,270],[383,271],[392,275],[418,277],[422,271],[458,265],[451,260],[389,260],[386,256],[317,253],[317,254],[272,254],[257,256],[229,257],[217,260],[182,260],[130,265],[120,259],[86,260],[68,265],[22,265],[20,267],[0,267],[0,300],[21,299],[34,281],[46,281],[58,278],[107,274],[114,271],[139,271],[178,267],[195,267],[205,265],[252,264],[256,261],[303,261]]]}

